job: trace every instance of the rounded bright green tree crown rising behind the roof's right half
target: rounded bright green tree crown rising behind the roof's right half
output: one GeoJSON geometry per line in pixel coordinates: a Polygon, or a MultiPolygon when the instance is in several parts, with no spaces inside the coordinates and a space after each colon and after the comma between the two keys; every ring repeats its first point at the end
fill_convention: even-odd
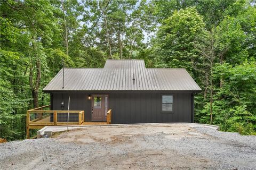
{"type": "Polygon", "coordinates": [[[202,36],[204,23],[196,8],[174,11],[159,28],[154,50],[157,67],[183,67],[190,73],[198,60],[196,38],[202,36]]]}

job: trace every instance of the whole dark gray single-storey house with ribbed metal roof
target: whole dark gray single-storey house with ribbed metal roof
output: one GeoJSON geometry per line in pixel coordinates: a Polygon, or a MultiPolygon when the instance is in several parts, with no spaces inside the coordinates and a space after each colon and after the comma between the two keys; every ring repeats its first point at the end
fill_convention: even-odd
{"type": "Polygon", "coordinates": [[[102,69],[65,68],[43,89],[51,110],[85,111],[85,122],[193,122],[201,88],[185,69],[147,69],[143,60],[107,60],[102,69]],[[63,83],[64,82],[64,83],[63,83]],[[63,85],[64,84],[64,85],[63,85]],[[63,86],[63,88],[62,88],[63,86]]]}

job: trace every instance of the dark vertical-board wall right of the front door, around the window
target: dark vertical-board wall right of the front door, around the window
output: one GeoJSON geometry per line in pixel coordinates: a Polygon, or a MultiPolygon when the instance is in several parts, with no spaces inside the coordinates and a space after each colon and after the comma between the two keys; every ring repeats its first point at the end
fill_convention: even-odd
{"type": "Polygon", "coordinates": [[[109,94],[109,108],[115,124],[191,122],[188,93],[113,93],[109,94]],[[162,95],[173,95],[173,113],[162,112],[162,95]]]}

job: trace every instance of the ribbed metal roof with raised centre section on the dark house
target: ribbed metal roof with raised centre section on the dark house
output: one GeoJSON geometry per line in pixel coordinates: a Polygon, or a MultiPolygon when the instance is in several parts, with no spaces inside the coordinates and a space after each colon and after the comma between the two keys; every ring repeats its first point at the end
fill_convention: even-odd
{"type": "Polygon", "coordinates": [[[64,89],[60,70],[43,90],[201,91],[185,69],[147,69],[143,60],[107,60],[103,69],[65,68],[64,71],[64,89]]]}

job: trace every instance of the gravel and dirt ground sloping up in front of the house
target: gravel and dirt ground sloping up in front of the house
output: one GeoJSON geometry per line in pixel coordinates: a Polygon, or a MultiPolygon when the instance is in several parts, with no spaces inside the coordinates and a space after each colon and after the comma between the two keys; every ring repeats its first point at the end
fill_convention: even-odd
{"type": "Polygon", "coordinates": [[[99,126],[2,143],[0,169],[256,169],[256,137],[185,124],[99,126]]]}

